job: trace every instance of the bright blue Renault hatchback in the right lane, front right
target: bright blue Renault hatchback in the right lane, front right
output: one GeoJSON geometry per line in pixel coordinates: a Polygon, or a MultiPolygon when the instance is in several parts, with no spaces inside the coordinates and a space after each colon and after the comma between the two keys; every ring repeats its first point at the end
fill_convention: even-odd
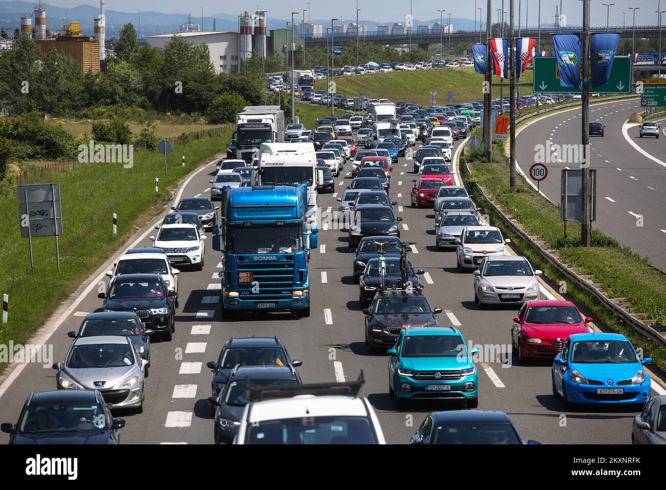
{"type": "Polygon", "coordinates": [[[624,335],[575,333],[553,359],[553,395],[565,403],[644,405],[650,398],[650,377],[624,335]]]}

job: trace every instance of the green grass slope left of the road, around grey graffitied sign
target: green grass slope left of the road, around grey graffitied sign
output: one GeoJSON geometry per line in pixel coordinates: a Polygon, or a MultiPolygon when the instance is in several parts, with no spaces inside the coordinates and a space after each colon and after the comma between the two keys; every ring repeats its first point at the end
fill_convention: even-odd
{"type": "MultiPolygon", "coordinates": [[[[30,269],[27,239],[21,238],[16,189],[0,196],[0,293],[9,294],[9,321],[0,329],[0,344],[24,344],[59,304],[117,250],[128,237],[163,211],[172,189],[186,174],[224,151],[230,127],[173,141],[165,175],[160,153],[136,153],[131,169],[122,163],[82,165],[44,181],[60,184],[63,235],[59,237],[61,270],[56,267],[55,239],[33,239],[35,270],[30,269]],[[186,165],[180,164],[185,155],[186,165]],[[159,177],[159,192],[155,192],[159,177]],[[118,234],[112,234],[113,213],[118,234]]],[[[35,181],[37,183],[37,181],[35,181]]],[[[6,365],[0,364],[0,372],[6,365]]]]}

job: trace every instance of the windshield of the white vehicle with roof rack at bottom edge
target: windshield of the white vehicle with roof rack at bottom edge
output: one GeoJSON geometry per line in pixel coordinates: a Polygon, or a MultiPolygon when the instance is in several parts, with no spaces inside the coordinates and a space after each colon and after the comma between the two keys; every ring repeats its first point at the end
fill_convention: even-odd
{"type": "Polygon", "coordinates": [[[296,417],[248,425],[246,444],[376,444],[368,417],[296,417]]]}

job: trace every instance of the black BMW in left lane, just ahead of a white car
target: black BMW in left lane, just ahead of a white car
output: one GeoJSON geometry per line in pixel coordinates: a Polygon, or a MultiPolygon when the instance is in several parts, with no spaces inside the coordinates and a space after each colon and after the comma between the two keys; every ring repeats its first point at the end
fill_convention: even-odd
{"type": "Polygon", "coordinates": [[[97,311],[134,311],[147,329],[170,341],[176,322],[174,298],[159,274],[121,274],[113,278],[108,293],[99,293],[104,304],[97,311]]]}

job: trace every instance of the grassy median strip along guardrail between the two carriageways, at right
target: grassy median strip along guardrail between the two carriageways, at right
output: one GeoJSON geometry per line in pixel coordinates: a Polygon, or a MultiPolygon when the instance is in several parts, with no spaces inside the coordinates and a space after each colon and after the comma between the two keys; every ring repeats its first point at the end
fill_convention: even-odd
{"type": "MultiPolygon", "coordinates": [[[[657,323],[666,324],[666,275],[652,267],[647,257],[640,257],[628,247],[621,247],[615,239],[599,230],[593,230],[593,246],[579,247],[580,224],[569,222],[568,236],[565,239],[557,207],[547,203],[521,176],[517,176],[516,191],[511,191],[509,159],[505,155],[503,142],[493,145],[493,163],[490,164],[484,161],[483,149],[466,149],[461,157],[460,169],[466,186],[479,203],[483,203],[484,199],[472,185],[475,182],[488,189],[494,203],[509,209],[530,235],[541,237],[547,245],[557,249],[557,253],[563,257],[562,260],[574,266],[578,273],[591,275],[596,283],[601,284],[613,296],[626,298],[637,312],[648,313],[657,323]],[[472,171],[468,171],[465,163],[472,164],[472,171]]],[[[645,356],[653,357],[655,366],[666,371],[664,349],[613,315],[591,293],[567,281],[567,278],[545,261],[529,243],[513,233],[499,215],[495,215],[491,209],[488,209],[488,213],[492,223],[511,238],[513,245],[520,249],[535,267],[542,269],[551,280],[565,285],[566,293],[581,307],[612,331],[626,335],[636,347],[643,347],[645,356]]]]}

